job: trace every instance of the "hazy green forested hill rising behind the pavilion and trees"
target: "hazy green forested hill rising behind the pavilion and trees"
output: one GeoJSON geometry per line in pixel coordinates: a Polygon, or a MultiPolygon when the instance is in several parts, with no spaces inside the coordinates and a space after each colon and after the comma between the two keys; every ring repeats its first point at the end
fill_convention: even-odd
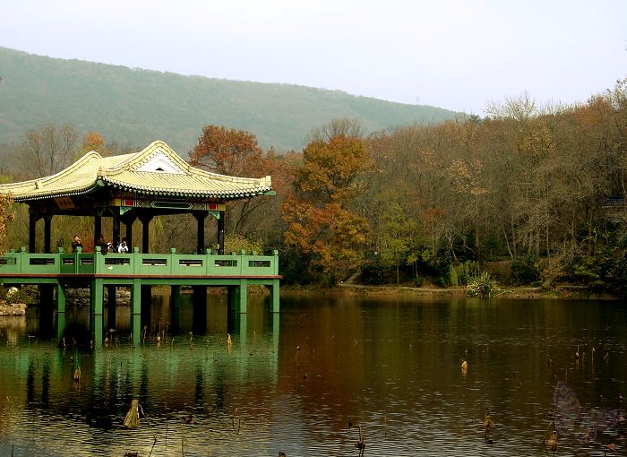
{"type": "Polygon", "coordinates": [[[333,118],[355,118],[365,132],[436,123],[456,113],[289,84],[236,82],[125,66],[34,56],[0,47],[0,143],[18,142],[47,122],[143,146],[162,139],[179,153],[203,125],[253,133],[264,148],[299,150],[333,118]]]}

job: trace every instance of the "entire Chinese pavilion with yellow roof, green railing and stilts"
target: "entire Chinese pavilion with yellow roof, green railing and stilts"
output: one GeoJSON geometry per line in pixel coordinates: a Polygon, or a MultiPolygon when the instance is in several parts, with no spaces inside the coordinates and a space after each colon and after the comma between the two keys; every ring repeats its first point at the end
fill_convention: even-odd
{"type": "MultiPolygon", "coordinates": [[[[101,157],[91,151],[56,175],[21,183],[0,185],[0,193],[30,207],[29,249],[22,247],[0,257],[4,283],[39,284],[41,303],[53,303],[64,321],[65,288],[90,287],[92,332],[103,337],[103,288],[109,290],[109,315],[115,315],[115,288],[131,289],[131,328],[139,339],[141,315],[150,312],[150,287],[167,285],[176,312],[181,286],[194,288],[194,313],[206,315],[206,288],[228,288],[231,310],[246,313],[248,285],[271,288],[272,311],[279,311],[279,255],[224,252],[226,203],[260,195],[272,195],[271,178],[228,177],[193,168],[164,142],[152,142],[143,151],[101,157]],[[149,253],[150,220],[157,215],[192,214],[197,221],[197,254],[149,253]],[[93,253],[65,253],[51,249],[52,220],[56,215],[90,216],[94,220],[93,253]],[[218,222],[218,249],[205,249],[205,220],[218,222]],[[121,238],[121,225],[129,254],[107,254],[97,246],[102,218],[112,221],[112,241],[121,238]],[[36,251],[36,229],[44,224],[43,253],[36,251]],[[142,246],[133,246],[133,222],[142,224],[142,246]],[[113,298],[111,298],[113,297],[113,298]]],[[[115,319],[115,318],[114,318],[115,319]]]]}

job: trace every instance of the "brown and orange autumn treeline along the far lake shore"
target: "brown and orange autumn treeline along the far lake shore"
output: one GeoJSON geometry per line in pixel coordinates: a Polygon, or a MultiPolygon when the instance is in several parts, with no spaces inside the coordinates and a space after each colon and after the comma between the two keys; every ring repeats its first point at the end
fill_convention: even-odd
{"type": "MultiPolygon", "coordinates": [[[[627,80],[583,105],[539,108],[522,96],[485,118],[367,136],[338,119],[281,155],[253,134],[206,125],[190,158],[272,176],[277,196],[228,203],[228,243],[279,249],[285,282],[450,286],[490,272],[624,293],[626,133],[627,80]]],[[[152,247],[192,250],[188,227],[158,221],[152,247]]],[[[7,235],[18,241],[11,226],[7,235]]]]}

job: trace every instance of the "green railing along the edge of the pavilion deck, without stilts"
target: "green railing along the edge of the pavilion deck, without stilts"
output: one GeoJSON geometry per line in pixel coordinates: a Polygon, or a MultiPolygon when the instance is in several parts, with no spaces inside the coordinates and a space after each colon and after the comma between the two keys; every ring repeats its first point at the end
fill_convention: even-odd
{"type": "Polygon", "coordinates": [[[163,277],[273,277],[279,275],[279,252],[217,254],[64,253],[29,254],[26,248],[0,256],[0,277],[7,275],[163,276],[163,277]]]}

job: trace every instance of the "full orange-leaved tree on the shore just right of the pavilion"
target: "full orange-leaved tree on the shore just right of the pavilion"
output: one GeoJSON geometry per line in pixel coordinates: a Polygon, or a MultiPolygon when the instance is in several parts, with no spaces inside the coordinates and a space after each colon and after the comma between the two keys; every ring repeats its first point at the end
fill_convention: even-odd
{"type": "Polygon", "coordinates": [[[329,285],[360,264],[370,228],[351,204],[365,190],[371,163],[360,139],[339,135],[310,142],[282,205],[285,244],[304,256],[312,277],[329,285]]]}

